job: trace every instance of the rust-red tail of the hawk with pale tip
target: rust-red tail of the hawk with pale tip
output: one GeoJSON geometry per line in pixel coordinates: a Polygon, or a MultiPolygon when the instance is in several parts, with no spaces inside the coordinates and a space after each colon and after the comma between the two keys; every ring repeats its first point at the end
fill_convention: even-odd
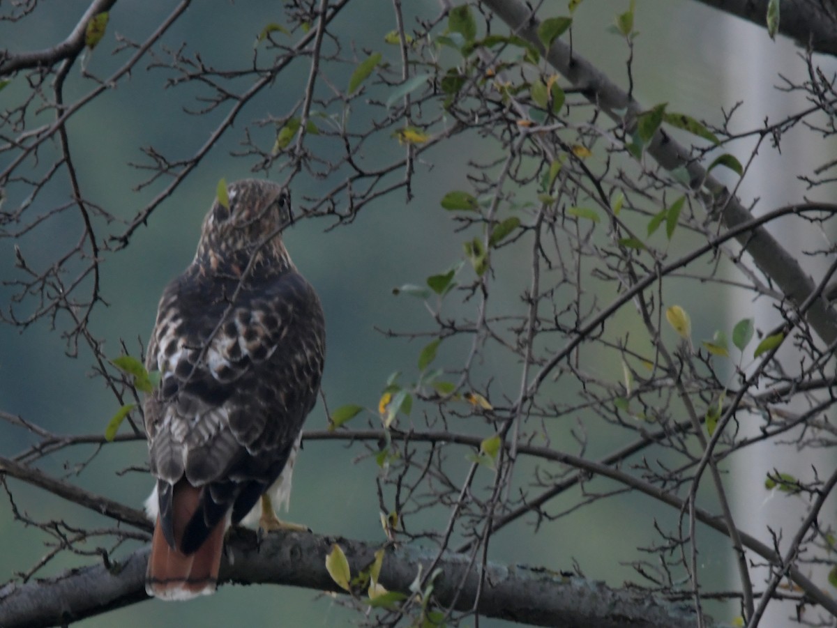
{"type": "Polygon", "coordinates": [[[180,551],[183,530],[198,508],[200,489],[185,480],[177,482],[172,503],[174,539],[172,548],[162,531],[160,518],[151,539],[151,556],[146,572],[146,592],[162,600],[190,600],[214,593],[223,551],[225,521],[222,518],[193,554],[180,551]]]}

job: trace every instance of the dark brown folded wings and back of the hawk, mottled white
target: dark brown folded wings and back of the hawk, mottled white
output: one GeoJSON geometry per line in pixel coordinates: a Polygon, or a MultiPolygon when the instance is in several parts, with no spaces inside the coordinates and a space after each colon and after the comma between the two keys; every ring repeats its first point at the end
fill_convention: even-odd
{"type": "Polygon", "coordinates": [[[293,268],[239,288],[238,278],[207,278],[195,265],[168,285],[147,359],[162,381],[145,410],[172,548],[192,554],[279,477],[316,402],[324,353],[319,299],[293,268]],[[184,479],[198,504],[178,524],[184,479]]]}

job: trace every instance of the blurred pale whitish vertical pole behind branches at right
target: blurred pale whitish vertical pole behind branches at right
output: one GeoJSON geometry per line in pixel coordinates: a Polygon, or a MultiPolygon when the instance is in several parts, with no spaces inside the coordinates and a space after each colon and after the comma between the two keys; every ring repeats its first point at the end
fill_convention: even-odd
{"type": "MultiPolygon", "coordinates": [[[[734,130],[756,130],[763,127],[765,118],[768,123],[777,122],[793,111],[803,109],[804,96],[788,94],[775,89],[782,84],[779,74],[802,83],[807,79],[804,59],[799,56],[800,49],[788,40],[778,37],[772,41],[765,28],[758,28],[751,23],[737,18],[725,19],[725,33],[728,64],[724,74],[725,97],[724,106],[730,110],[738,100],[744,104],[733,117],[734,130]]],[[[811,142],[814,146],[804,146],[806,139],[813,139],[811,131],[798,127],[781,140],[781,154],[770,145],[769,140],[763,142],[758,155],[752,164],[751,171],[739,187],[738,194],[745,204],[759,199],[754,212],[758,215],[792,202],[799,202],[805,195],[804,183],[797,180],[799,174],[809,173],[818,163],[826,161],[824,156],[816,154],[815,145],[819,138],[811,142]]],[[[744,163],[755,147],[755,140],[749,145],[738,144],[732,148],[736,156],[744,163]]],[[[810,193],[810,192],[809,192],[810,193]]],[[[784,247],[800,253],[804,250],[804,238],[811,236],[811,231],[793,218],[769,227],[778,237],[784,247]],[[807,231],[807,233],[806,233],[807,231]]],[[[817,276],[813,263],[799,256],[806,264],[809,272],[817,276]]],[[[772,303],[767,299],[755,302],[747,294],[738,294],[727,304],[727,329],[738,320],[752,317],[756,320],[758,329],[767,330],[779,322],[772,303]]],[[[757,340],[745,351],[742,364],[752,361],[752,350],[757,340]]],[[[781,358],[788,365],[789,372],[798,369],[799,360],[796,352],[786,343],[781,350],[781,358]]],[[[732,353],[735,349],[731,350],[732,353]]],[[[804,411],[803,407],[790,407],[788,410],[804,411]]],[[[763,417],[747,415],[739,416],[741,431],[739,437],[755,436],[759,427],[763,425],[763,417]]],[[[793,435],[788,435],[792,440],[793,435]]],[[[773,442],[765,442],[751,447],[748,451],[739,452],[733,457],[729,474],[729,485],[732,494],[732,506],[736,522],[740,528],[753,534],[764,543],[773,546],[773,538],[769,534],[768,526],[776,533],[782,534],[782,549],[787,549],[789,539],[798,529],[801,518],[804,517],[804,504],[800,498],[786,493],[771,493],[764,488],[764,481],[768,472],[788,472],[794,477],[812,479],[812,467],[816,467],[822,477],[825,469],[829,469],[827,453],[820,449],[807,451],[801,455],[794,447],[778,447],[773,442]]],[[[756,559],[753,557],[753,559],[756,559]]],[[[759,559],[756,559],[760,562],[759,559]]],[[[730,567],[730,581],[737,585],[740,581],[734,565],[730,567]]],[[[814,582],[821,582],[827,586],[827,569],[822,573],[809,573],[814,582]]],[[[752,583],[756,591],[763,590],[768,569],[752,570],[752,583]]],[[[757,600],[758,602],[758,600],[757,600]]],[[[789,617],[796,614],[792,602],[773,601],[764,615],[761,628],[783,628],[790,622],[789,617]]],[[[718,618],[730,620],[730,618],[718,618]]]]}

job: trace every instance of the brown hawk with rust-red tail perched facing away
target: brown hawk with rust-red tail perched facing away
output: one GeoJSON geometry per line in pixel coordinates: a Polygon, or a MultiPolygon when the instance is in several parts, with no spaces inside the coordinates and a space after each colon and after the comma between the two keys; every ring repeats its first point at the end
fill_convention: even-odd
{"type": "Polygon", "coordinates": [[[161,373],[145,403],[157,478],[146,591],[166,600],[213,593],[230,524],[249,514],[262,528],[292,526],[273,507],[290,497],[325,358],[320,300],[282,243],[290,195],[246,180],[227,197],[163,291],[146,358],[161,373]]]}

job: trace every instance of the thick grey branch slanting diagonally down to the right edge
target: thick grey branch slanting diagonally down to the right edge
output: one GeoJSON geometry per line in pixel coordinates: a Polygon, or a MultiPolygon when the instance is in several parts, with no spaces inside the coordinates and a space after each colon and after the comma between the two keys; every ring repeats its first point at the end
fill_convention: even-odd
{"type": "MultiPolygon", "coordinates": [[[[538,49],[543,45],[537,35],[539,22],[531,9],[520,0],[482,0],[497,17],[505,22],[513,33],[538,49]]],[[[587,59],[574,54],[567,43],[556,39],[546,53],[548,62],[574,85],[581,89],[584,97],[598,106],[612,120],[631,130],[636,116],[643,108],[617,84],[602,74],[587,59]]],[[[706,172],[698,162],[691,159],[689,151],[680,146],[665,131],[658,130],[648,146],[648,153],[667,171],[685,168],[692,186],[707,191],[722,207],[721,220],[727,228],[734,228],[752,221],[752,214],[737,198],[728,194],[726,187],[706,172]]],[[[758,268],[781,288],[793,304],[799,306],[814,293],[814,281],[799,265],[797,259],[785,250],[778,240],[764,227],[742,232],[737,238],[758,268]]],[[[811,305],[805,315],[808,323],[828,345],[837,341],[837,315],[829,308],[822,296],[811,305]]]]}

